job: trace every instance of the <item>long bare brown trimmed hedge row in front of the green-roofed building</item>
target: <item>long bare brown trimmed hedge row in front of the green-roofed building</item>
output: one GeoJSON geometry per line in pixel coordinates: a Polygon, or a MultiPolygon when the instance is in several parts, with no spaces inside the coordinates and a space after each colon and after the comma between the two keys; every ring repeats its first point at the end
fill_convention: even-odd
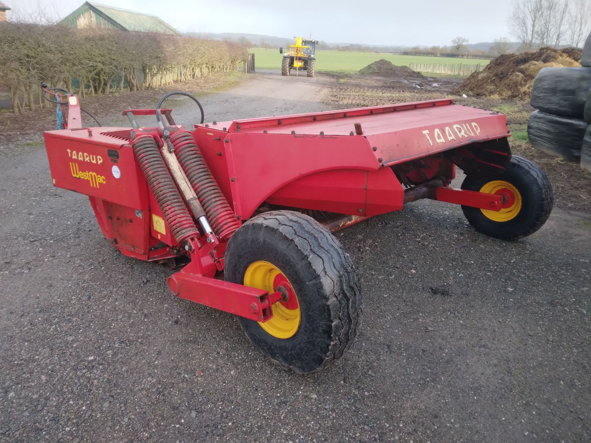
{"type": "Polygon", "coordinates": [[[236,70],[245,56],[245,47],[224,41],[61,25],[0,24],[0,86],[11,90],[15,113],[24,107],[44,106],[39,99],[42,82],[82,97],[121,90],[125,83],[131,91],[142,90],[236,70]]]}

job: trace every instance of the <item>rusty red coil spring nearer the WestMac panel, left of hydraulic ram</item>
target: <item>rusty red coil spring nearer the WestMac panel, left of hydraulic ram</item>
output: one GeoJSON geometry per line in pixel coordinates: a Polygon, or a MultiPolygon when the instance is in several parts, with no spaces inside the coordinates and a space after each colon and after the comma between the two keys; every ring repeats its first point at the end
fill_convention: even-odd
{"type": "Polygon", "coordinates": [[[199,230],[168,172],[155,139],[150,135],[138,136],[131,145],[174,238],[181,243],[189,237],[199,237],[199,230]]]}

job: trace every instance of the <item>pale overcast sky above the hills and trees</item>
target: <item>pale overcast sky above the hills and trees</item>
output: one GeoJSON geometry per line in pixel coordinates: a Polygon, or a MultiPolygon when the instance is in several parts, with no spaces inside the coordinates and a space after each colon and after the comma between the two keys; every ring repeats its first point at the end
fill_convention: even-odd
{"type": "MultiPolygon", "coordinates": [[[[52,5],[61,17],[82,0],[2,0],[13,8],[52,5]]],[[[181,32],[309,35],[330,43],[447,45],[511,38],[512,0],[100,0],[97,3],[158,15],[181,32]],[[301,5],[298,8],[296,5],[301,5]]],[[[10,11],[9,11],[10,13],[10,11]]],[[[513,39],[512,39],[513,40],[513,39]]]]}

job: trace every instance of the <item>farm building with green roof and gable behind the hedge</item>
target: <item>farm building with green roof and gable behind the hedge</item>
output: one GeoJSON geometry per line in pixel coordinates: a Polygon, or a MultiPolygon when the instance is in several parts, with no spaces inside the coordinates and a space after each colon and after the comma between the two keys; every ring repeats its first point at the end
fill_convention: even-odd
{"type": "Polygon", "coordinates": [[[60,23],[72,28],[109,28],[122,31],[158,32],[181,35],[163,19],[142,12],[127,11],[113,6],[84,2],[79,8],[61,19],[60,23]]]}

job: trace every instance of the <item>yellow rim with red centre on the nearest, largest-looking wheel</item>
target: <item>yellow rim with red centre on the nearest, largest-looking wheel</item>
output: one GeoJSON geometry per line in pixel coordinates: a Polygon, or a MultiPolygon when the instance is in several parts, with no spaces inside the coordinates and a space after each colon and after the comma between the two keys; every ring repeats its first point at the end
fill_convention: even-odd
{"type": "Polygon", "coordinates": [[[277,266],[263,260],[251,263],[244,273],[244,285],[264,289],[269,294],[278,291],[278,286],[285,289],[287,301],[280,300],[274,303],[273,318],[264,323],[259,322],[259,325],[273,337],[293,337],[300,327],[300,304],[290,281],[277,266]]]}

